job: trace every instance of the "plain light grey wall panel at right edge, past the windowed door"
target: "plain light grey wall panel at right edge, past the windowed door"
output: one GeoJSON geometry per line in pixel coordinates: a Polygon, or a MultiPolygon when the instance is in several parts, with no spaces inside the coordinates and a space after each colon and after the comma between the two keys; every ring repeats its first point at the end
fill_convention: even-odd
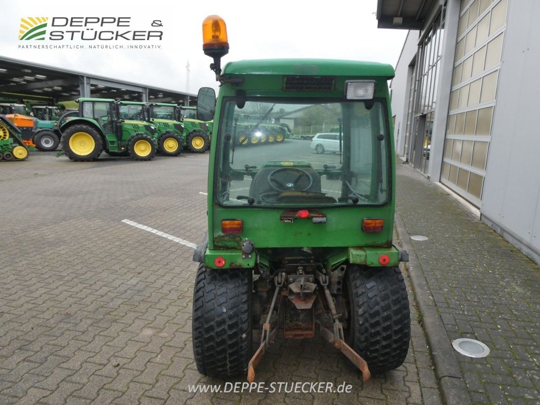
{"type": "Polygon", "coordinates": [[[511,0],[481,214],[540,261],[540,15],[538,0],[511,0]]]}

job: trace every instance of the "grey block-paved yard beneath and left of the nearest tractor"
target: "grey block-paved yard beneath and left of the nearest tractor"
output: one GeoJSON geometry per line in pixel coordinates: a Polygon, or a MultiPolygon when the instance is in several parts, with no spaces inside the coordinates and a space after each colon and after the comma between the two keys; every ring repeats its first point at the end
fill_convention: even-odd
{"type": "Polygon", "coordinates": [[[268,384],[349,393],[189,392],[224,384],[197,372],[191,346],[197,265],[184,242],[206,231],[207,165],[207,153],[0,163],[0,404],[440,404],[411,294],[413,338],[393,372],[363,383],[322,338],[278,340],[257,369],[268,384]]]}

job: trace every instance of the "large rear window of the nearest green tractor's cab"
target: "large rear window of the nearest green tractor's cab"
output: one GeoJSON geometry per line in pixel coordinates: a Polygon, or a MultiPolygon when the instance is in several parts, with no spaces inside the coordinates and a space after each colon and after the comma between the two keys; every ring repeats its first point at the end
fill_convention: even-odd
{"type": "Polygon", "coordinates": [[[248,101],[239,109],[231,99],[222,111],[215,173],[220,204],[380,205],[388,200],[384,100],[248,101]]]}

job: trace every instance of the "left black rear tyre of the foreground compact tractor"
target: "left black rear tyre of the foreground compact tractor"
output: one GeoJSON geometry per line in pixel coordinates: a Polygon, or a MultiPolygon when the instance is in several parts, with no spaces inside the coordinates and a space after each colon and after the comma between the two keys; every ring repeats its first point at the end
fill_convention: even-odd
{"type": "Polygon", "coordinates": [[[199,373],[246,375],[251,357],[251,269],[199,265],[193,291],[193,355],[199,373]]]}

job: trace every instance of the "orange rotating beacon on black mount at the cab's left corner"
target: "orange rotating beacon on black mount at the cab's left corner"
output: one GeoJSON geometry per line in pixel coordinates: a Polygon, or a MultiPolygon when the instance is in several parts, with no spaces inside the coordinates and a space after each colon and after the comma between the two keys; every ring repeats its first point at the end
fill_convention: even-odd
{"type": "Polygon", "coordinates": [[[203,51],[214,59],[210,69],[215,72],[215,79],[220,80],[221,57],[229,52],[227,26],[220,16],[208,16],[203,21],[203,51]]]}

